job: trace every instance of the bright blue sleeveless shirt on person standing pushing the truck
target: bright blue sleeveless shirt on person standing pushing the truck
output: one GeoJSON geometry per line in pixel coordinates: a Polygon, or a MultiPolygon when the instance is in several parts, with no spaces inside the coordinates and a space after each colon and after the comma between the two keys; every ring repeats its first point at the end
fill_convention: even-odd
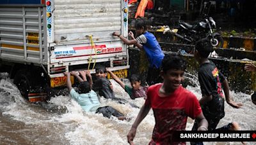
{"type": "Polygon", "coordinates": [[[155,66],[159,69],[164,58],[164,53],[154,34],[146,31],[144,34],[136,38],[136,40],[143,45],[143,49],[147,54],[148,61],[150,62],[150,67],[155,66]]]}

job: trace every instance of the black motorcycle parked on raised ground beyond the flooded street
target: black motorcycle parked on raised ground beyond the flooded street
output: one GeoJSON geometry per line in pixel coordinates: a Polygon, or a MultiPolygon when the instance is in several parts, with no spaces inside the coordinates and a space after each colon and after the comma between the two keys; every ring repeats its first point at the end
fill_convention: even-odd
{"type": "Polygon", "coordinates": [[[212,17],[204,17],[203,20],[195,25],[188,24],[182,20],[179,20],[180,29],[174,33],[177,38],[184,40],[185,43],[194,44],[196,41],[207,38],[211,41],[212,46],[223,46],[223,38],[218,32],[213,32],[212,29],[216,28],[216,22],[212,17]]]}

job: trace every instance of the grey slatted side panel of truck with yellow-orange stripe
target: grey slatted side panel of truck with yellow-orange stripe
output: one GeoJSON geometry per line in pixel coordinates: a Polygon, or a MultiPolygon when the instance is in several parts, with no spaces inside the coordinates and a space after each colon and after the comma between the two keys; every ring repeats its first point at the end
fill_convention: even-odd
{"type": "Polygon", "coordinates": [[[0,6],[0,58],[47,62],[42,6],[0,6]]]}

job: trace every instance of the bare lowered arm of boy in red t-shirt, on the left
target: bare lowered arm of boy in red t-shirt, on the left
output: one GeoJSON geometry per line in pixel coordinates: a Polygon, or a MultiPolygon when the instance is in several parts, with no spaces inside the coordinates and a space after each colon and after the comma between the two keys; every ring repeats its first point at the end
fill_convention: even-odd
{"type": "Polygon", "coordinates": [[[127,135],[127,140],[129,144],[133,144],[133,139],[136,135],[136,130],[138,125],[141,123],[141,121],[147,116],[148,112],[150,111],[150,106],[145,106],[145,104],[141,107],[140,113],[138,114],[136,120],[134,121],[131,130],[129,131],[127,135]]]}

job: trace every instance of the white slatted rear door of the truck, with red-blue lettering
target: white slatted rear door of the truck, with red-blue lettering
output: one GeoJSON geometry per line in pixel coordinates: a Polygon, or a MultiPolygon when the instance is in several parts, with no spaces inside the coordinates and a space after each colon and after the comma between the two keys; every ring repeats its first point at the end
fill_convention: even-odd
{"type": "Polygon", "coordinates": [[[112,36],[115,31],[127,36],[126,0],[56,0],[51,9],[51,64],[128,59],[127,46],[112,36]]]}

